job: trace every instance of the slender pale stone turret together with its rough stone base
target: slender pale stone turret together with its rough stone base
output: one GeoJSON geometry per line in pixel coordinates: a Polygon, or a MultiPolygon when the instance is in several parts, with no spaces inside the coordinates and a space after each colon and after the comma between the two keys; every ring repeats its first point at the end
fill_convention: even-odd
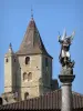
{"type": "Polygon", "coordinates": [[[8,52],[4,54],[4,92],[2,93],[2,101],[4,103],[15,102],[15,82],[17,82],[17,62],[15,53],[10,43],[8,52]]]}

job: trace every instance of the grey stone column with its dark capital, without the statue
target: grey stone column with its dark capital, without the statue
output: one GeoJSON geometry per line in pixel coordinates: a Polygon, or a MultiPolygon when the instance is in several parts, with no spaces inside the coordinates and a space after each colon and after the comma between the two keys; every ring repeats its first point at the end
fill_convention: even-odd
{"type": "Polygon", "coordinates": [[[72,82],[75,75],[73,74],[60,74],[59,79],[62,82],[62,101],[61,111],[72,111],[72,82]]]}

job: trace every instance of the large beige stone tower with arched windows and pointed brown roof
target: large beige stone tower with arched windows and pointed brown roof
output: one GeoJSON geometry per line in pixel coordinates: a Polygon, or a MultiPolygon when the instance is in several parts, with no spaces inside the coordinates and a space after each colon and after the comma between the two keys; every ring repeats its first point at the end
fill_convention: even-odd
{"type": "Polygon", "coordinates": [[[56,84],[53,89],[58,88],[58,81],[52,80],[52,57],[44,48],[33,17],[15,54],[18,58],[17,88],[22,100],[51,91],[52,82],[56,84]]]}

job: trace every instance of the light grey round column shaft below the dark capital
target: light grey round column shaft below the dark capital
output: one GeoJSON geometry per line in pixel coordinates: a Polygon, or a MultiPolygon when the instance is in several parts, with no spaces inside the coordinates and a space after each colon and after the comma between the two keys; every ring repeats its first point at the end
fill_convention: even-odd
{"type": "Polygon", "coordinates": [[[72,84],[62,83],[62,107],[61,111],[72,111],[72,84]]]}

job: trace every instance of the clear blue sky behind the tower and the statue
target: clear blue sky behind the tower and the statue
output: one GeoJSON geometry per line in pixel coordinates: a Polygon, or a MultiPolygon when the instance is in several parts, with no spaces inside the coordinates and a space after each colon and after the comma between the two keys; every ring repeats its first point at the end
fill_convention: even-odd
{"type": "Polygon", "coordinates": [[[71,36],[75,30],[71,46],[75,61],[73,90],[83,93],[83,0],[0,0],[0,93],[4,85],[4,53],[10,42],[14,52],[19,49],[31,19],[31,6],[42,41],[53,57],[53,78],[58,79],[61,69],[58,31],[62,34],[65,28],[71,36]]]}

